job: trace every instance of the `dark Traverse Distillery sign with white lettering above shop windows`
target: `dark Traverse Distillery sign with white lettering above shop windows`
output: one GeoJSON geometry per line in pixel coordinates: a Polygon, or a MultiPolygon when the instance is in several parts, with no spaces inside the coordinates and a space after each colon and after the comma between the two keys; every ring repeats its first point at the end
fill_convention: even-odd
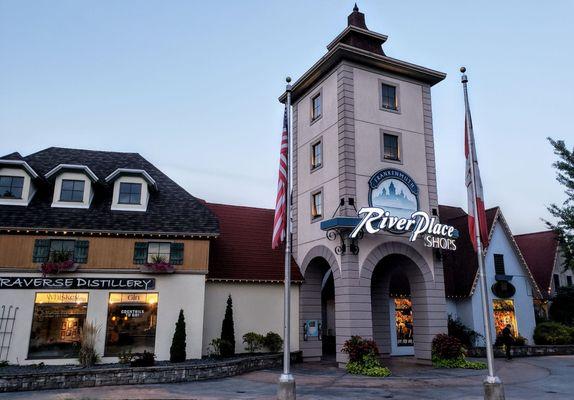
{"type": "Polygon", "coordinates": [[[0,289],[153,290],[155,279],[0,277],[0,289]]]}

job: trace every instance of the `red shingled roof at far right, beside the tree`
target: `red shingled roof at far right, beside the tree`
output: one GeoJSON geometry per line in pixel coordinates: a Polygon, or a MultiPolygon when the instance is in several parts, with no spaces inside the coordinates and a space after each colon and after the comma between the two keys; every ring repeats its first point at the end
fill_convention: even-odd
{"type": "Polygon", "coordinates": [[[534,276],[540,291],[547,296],[558,242],[553,231],[527,233],[514,236],[520,251],[534,276]]]}

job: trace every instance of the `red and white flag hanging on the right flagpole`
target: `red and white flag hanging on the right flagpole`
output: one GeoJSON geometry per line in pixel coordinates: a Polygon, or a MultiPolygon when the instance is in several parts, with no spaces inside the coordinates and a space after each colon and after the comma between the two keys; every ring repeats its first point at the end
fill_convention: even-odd
{"type": "MultiPolygon", "coordinates": [[[[467,106],[468,107],[468,106],[467,106]]],[[[468,231],[474,250],[477,250],[474,202],[478,210],[478,225],[480,231],[480,241],[483,248],[488,246],[488,225],[486,222],[486,212],[484,210],[484,193],[482,190],[482,181],[480,179],[480,170],[478,169],[478,160],[476,158],[476,146],[474,143],[474,133],[472,130],[472,120],[470,119],[470,110],[466,111],[464,119],[464,155],[466,157],[466,189],[468,195],[468,231]],[[474,166],[472,168],[471,166],[474,166]],[[474,170],[474,176],[473,176],[474,170]],[[474,185],[473,185],[474,183],[474,185]],[[474,193],[476,188],[476,194],[474,193]]]]}

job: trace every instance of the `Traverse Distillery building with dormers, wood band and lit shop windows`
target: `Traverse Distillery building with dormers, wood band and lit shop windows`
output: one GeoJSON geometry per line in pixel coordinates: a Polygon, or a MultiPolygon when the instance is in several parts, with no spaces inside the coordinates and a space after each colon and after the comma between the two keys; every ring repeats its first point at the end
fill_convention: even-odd
{"type": "Polygon", "coordinates": [[[70,363],[86,323],[103,361],[169,359],[179,310],[201,357],[213,213],[138,154],[49,148],[0,158],[2,354],[70,363]]]}

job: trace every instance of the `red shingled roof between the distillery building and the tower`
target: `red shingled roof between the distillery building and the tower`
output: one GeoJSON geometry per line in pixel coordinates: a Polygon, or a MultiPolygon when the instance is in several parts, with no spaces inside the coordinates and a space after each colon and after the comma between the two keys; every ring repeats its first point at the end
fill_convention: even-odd
{"type": "MultiPolygon", "coordinates": [[[[219,237],[209,251],[208,279],[283,281],[285,249],[271,249],[275,211],[265,208],[206,203],[219,219],[219,237]]],[[[291,262],[291,279],[303,281],[291,262]]]]}

